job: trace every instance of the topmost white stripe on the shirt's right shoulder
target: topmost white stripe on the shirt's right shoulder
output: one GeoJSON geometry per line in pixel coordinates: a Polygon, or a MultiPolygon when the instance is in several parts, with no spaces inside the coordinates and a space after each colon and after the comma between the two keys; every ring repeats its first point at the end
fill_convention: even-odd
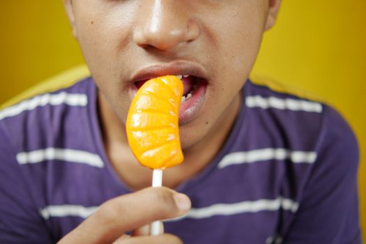
{"type": "Polygon", "coordinates": [[[317,112],[321,113],[323,107],[319,102],[310,102],[307,100],[296,100],[291,98],[275,98],[262,96],[249,96],[245,98],[245,104],[247,107],[260,107],[262,109],[268,109],[273,107],[275,109],[289,109],[293,111],[305,111],[305,112],[317,112]]]}

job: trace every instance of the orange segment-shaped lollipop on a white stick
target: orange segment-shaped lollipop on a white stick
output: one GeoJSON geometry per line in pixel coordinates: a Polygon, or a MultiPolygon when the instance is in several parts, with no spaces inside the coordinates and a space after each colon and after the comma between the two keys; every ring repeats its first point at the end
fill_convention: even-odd
{"type": "MultiPolygon", "coordinates": [[[[178,130],[182,95],[178,77],[150,79],[137,91],[128,111],[128,143],[139,163],[153,169],[153,187],[162,185],[163,169],[183,162],[178,130]]],[[[160,234],[160,222],[153,222],[151,234],[160,234]]]]}

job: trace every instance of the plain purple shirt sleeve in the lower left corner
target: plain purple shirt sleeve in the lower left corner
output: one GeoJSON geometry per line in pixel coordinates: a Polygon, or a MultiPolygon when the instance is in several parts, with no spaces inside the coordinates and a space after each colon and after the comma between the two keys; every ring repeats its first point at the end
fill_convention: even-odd
{"type": "Polygon", "coordinates": [[[0,121],[0,243],[52,243],[0,121]]]}

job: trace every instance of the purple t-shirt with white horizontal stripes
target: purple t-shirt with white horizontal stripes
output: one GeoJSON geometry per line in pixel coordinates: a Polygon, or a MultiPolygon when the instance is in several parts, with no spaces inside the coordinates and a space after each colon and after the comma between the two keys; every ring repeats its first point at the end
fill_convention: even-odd
{"type": "MultiPolygon", "coordinates": [[[[184,243],[360,243],[358,146],[334,109],[245,83],[227,141],[176,190],[184,243]]],[[[340,94],[342,96],[342,94],[340,94]]],[[[0,243],[56,243],[130,192],[107,158],[92,78],[0,112],[0,243]]]]}

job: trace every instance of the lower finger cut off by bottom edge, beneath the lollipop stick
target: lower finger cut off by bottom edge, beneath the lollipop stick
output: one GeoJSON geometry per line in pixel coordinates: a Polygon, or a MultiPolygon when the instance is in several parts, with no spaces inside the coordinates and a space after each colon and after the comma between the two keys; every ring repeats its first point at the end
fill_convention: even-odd
{"type": "Polygon", "coordinates": [[[177,236],[163,234],[160,236],[137,236],[118,239],[113,244],[183,244],[183,242],[177,236]]]}

